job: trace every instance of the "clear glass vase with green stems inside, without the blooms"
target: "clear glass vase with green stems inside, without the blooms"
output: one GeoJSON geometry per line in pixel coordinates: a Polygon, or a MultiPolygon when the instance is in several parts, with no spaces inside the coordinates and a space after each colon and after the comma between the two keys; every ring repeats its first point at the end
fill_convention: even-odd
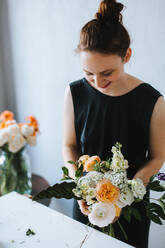
{"type": "Polygon", "coordinates": [[[31,194],[30,159],[24,149],[17,153],[0,151],[0,195],[16,191],[31,194]]]}

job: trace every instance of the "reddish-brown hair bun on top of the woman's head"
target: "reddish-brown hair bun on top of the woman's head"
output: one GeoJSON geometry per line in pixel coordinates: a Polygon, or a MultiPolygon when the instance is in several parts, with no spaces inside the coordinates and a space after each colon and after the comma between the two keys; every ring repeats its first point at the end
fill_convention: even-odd
{"type": "Polygon", "coordinates": [[[122,3],[117,3],[116,0],[104,0],[100,3],[99,10],[95,17],[102,21],[116,21],[122,23],[122,14],[124,8],[122,3]]]}

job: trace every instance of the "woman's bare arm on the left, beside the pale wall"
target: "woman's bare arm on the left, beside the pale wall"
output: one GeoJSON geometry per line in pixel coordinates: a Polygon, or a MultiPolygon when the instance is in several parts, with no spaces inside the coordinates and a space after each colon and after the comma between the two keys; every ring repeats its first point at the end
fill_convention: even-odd
{"type": "Polygon", "coordinates": [[[74,178],[76,167],[75,165],[68,163],[68,161],[78,160],[79,152],[77,149],[77,142],[76,142],[73,101],[69,86],[66,88],[65,96],[64,96],[62,155],[65,166],[69,170],[70,177],[74,178]]]}

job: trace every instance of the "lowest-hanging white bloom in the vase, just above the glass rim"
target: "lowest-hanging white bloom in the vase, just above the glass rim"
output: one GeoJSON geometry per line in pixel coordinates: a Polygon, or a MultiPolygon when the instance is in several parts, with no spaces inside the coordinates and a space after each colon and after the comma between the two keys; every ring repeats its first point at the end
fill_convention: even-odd
{"type": "Polygon", "coordinates": [[[8,149],[10,152],[16,153],[24,147],[25,144],[26,140],[21,134],[18,133],[15,137],[9,140],[8,149]]]}

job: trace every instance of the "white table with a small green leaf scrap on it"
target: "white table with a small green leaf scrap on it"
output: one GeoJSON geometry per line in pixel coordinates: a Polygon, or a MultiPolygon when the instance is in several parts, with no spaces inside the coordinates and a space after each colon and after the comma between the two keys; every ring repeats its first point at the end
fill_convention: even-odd
{"type": "Polygon", "coordinates": [[[129,248],[15,192],[0,197],[0,248],[129,248]],[[36,234],[26,236],[28,229],[36,234]]]}

